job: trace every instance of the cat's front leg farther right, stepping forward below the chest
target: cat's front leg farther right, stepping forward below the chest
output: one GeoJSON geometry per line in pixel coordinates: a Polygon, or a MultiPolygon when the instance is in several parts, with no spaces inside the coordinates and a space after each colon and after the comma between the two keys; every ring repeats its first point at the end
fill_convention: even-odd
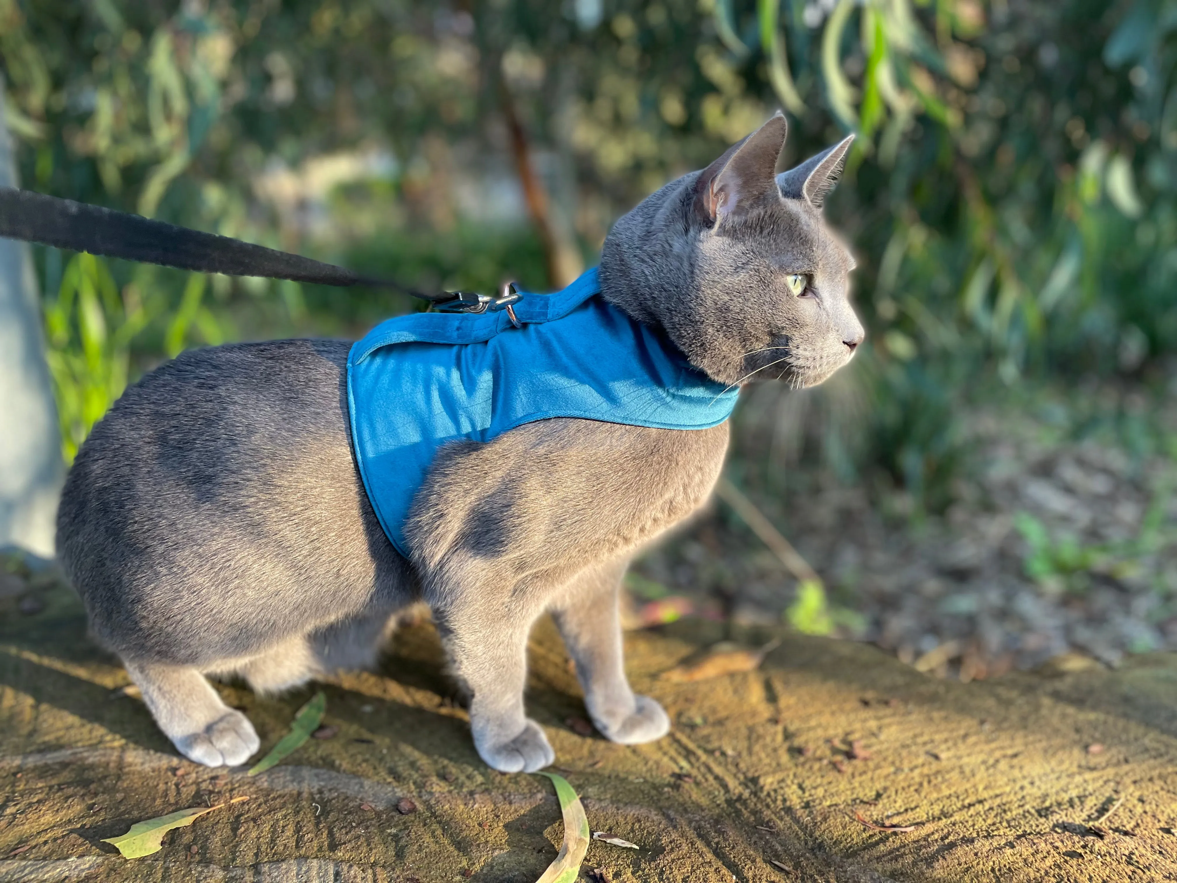
{"type": "Polygon", "coordinates": [[[670,731],[654,699],[637,696],[625,678],[618,589],[626,560],[590,567],[552,605],[552,615],[577,666],[593,725],[612,742],[634,745],[670,731]]]}

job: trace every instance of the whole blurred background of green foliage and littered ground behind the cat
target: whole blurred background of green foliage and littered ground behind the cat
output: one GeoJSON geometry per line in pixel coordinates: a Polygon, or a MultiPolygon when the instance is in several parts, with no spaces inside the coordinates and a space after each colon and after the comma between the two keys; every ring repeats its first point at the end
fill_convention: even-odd
{"type": "MultiPolygon", "coordinates": [[[[1172,0],[0,0],[24,186],[424,288],[564,285],[778,107],[789,164],[856,132],[867,344],[729,466],[824,590],[722,505],[631,589],[966,679],[1177,646],[1175,54],[1172,0]]],[[[67,459],[184,347],[418,308],[34,253],[67,459]]]]}

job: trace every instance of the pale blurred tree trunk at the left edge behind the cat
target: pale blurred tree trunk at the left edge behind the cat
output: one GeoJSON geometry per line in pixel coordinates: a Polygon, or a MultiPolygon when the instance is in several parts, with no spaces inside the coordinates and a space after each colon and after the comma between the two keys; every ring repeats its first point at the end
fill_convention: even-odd
{"type": "MultiPolygon", "coordinates": [[[[15,187],[15,146],[4,125],[0,186],[15,187]]],[[[53,520],[64,465],[28,246],[0,239],[0,549],[53,557],[53,520]]]]}

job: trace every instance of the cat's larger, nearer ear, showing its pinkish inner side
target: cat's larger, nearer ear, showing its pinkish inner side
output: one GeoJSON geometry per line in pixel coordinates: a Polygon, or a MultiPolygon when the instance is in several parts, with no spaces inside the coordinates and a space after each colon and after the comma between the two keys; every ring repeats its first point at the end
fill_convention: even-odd
{"type": "Polygon", "coordinates": [[[694,182],[694,212],[705,224],[723,223],[777,190],[773,173],[789,124],[779,111],[703,170],[694,182]]]}

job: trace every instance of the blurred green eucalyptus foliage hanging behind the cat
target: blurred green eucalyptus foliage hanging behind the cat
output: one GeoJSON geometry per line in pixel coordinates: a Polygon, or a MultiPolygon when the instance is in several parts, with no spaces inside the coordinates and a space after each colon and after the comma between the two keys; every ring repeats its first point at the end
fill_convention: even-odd
{"type": "MultiPolygon", "coordinates": [[[[791,159],[855,132],[827,214],[860,255],[855,394],[876,406],[869,444],[832,419],[822,447],[924,496],[959,457],[966,378],[1131,373],[1177,348],[1175,27],[1173,0],[0,0],[0,57],[28,186],[432,285],[546,281],[540,238],[463,197],[513,174],[512,114],[586,260],[778,106],[791,159]]],[[[140,367],[407,308],[55,260],[54,374],[89,403],[64,409],[82,431],[126,376],[95,361],[87,304],[140,367]]]]}

